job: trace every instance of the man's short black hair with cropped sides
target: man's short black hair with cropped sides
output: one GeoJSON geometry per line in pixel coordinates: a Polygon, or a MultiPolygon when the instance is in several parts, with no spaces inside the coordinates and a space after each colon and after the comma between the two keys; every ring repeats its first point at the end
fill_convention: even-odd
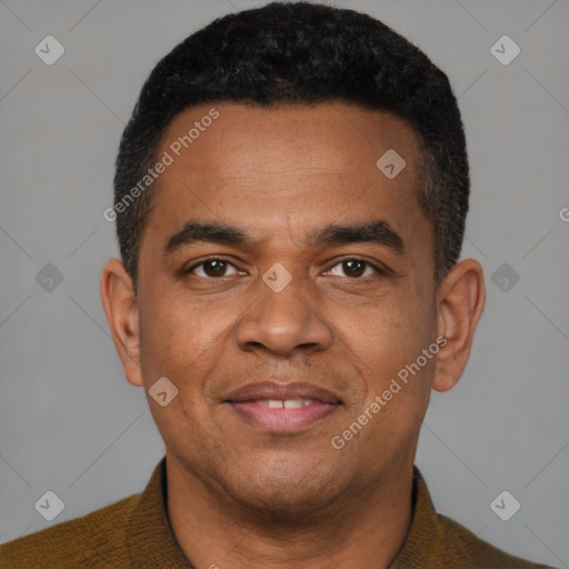
{"type": "Polygon", "coordinates": [[[337,101],[405,120],[421,148],[418,201],[433,231],[437,284],[457,262],[470,180],[460,111],[447,76],[368,14],[305,1],[272,2],[218,18],[191,34],[158,62],[142,87],[114,176],[119,247],[134,290],[152,188],[133,189],[156,163],[178,113],[223,101],[263,108],[337,101]]]}

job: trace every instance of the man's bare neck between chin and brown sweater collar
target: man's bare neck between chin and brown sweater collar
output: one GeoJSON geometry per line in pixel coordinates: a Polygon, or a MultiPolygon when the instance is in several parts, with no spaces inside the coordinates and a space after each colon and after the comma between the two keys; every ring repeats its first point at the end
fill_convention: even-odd
{"type": "Polygon", "coordinates": [[[387,568],[412,518],[412,463],[310,517],[252,511],[212,492],[167,455],[168,513],[197,568],[387,568]]]}

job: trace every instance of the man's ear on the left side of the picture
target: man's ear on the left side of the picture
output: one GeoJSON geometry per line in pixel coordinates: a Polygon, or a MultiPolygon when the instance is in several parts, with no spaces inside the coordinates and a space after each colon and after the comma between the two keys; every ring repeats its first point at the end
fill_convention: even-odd
{"type": "Polygon", "coordinates": [[[132,279],[119,259],[110,259],[104,264],[101,298],[127,381],[133,386],[142,386],[137,298],[132,279]]]}

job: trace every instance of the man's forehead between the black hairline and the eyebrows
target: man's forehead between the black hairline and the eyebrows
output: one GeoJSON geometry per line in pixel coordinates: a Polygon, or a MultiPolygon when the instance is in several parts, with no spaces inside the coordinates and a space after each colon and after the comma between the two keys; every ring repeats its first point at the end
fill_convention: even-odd
{"type": "Polygon", "coordinates": [[[259,238],[381,218],[409,238],[421,221],[419,143],[386,112],[340,103],[199,106],[172,120],[157,157],[168,166],[154,184],[154,233],[197,218],[247,226],[259,238]]]}

